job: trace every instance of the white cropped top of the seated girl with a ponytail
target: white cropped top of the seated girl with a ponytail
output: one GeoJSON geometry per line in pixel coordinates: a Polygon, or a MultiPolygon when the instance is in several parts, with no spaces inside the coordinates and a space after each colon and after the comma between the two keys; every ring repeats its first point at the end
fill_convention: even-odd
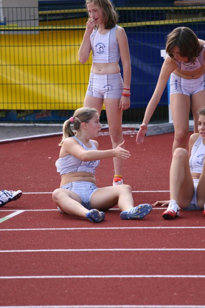
{"type": "MultiPolygon", "coordinates": [[[[81,142],[75,136],[69,137],[69,138],[75,138],[77,142],[86,151],[97,149],[94,142],[92,142],[91,140],[90,142],[92,144],[92,147],[88,148],[87,146],[85,146],[85,144],[83,144],[83,142],[81,142]]],[[[79,172],[79,171],[90,172],[92,174],[95,174],[95,169],[98,167],[99,162],[100,162],[99,160],[90,161],[90,162],[81,161],[80,159],[74,157],[73,155],[68,154],[64,157],[58,158],[58,160],[56,160],[55,162],[55,166],[57,168],[57,172],[60,172],[60,175],[68,174],[70,172],[79,172]]]]}

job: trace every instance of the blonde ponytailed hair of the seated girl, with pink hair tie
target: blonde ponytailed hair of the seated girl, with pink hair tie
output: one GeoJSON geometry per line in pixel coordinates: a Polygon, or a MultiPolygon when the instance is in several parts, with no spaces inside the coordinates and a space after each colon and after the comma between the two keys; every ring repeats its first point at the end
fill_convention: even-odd
{"type": "Polygon", "coordinates": [[[59,143],[62,145],[64,140],[68,137],[75,136],[73,130],[77,131],[80,129],[80,124],[83,122],[88,123],[94,115],[98,113],[97,109],[90,107],[81,107],[75,110],[73,117],[66,120],[63,125],[63,137],[59,143]],[[71,128],[71,124],[73,124],[73,129],[71,128]]]}

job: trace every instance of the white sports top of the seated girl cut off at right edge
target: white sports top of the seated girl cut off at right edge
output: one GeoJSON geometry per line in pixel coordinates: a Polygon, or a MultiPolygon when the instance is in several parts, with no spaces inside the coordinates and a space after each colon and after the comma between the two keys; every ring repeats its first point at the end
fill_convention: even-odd
{"type": "Polygon", "coordinates": [[[199,136],[195,141],[189,159],[190,171],[201,174],[204,161],[205,145],[199,136]]]}

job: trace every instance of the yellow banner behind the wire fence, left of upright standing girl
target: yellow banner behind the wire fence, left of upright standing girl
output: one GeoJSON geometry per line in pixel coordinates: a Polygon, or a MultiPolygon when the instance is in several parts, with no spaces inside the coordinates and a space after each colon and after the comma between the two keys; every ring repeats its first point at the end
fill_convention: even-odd
{"type": "Polygon", "coordinates": [[[0,109],[81,107],[91,67],[91,57],[78,62],[84,31],[1,34],[0,109]]]}

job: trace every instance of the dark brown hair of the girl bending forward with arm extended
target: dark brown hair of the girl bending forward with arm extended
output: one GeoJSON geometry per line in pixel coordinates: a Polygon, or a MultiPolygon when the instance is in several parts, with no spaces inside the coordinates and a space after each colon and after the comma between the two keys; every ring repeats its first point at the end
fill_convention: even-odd
{"type": "Polygon", "coordinates": [[[171,58],[176,46],[179,48],[180,56],[187,56],[191,63],[194,63],[203,48],[196,34],[188,27],[178,27],[167,35],[166,52],[171,58]]]}

